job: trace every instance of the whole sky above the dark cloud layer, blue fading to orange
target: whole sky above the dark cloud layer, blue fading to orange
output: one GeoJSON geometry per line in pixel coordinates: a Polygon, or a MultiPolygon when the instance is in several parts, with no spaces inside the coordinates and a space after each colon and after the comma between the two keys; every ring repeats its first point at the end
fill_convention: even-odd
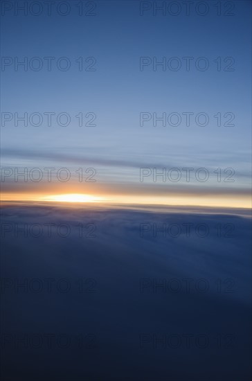
{"type": "Polygon", "coordinates": [[[250,206],[250,1],[17,3],[1,8],[2,200],[250,206]]]}

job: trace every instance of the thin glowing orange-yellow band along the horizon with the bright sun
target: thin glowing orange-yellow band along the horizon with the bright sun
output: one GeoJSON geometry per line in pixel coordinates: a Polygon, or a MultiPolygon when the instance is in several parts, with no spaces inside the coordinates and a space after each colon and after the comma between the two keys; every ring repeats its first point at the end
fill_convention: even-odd
{"type": "Polygon", "coordinates": [[[250,197],[239,195],[215,195],[213,197],[202,195],[87,195],[82,193],[66,193],[61,195],[41,195],[31,193],[3,193],[3,202],[61,202],[61,203],[96,203],[100,206],[111,204],[138,204],[163,205],[163,206],[199,206],[220,208],[245,208],[251,209],[250,197]]]}

